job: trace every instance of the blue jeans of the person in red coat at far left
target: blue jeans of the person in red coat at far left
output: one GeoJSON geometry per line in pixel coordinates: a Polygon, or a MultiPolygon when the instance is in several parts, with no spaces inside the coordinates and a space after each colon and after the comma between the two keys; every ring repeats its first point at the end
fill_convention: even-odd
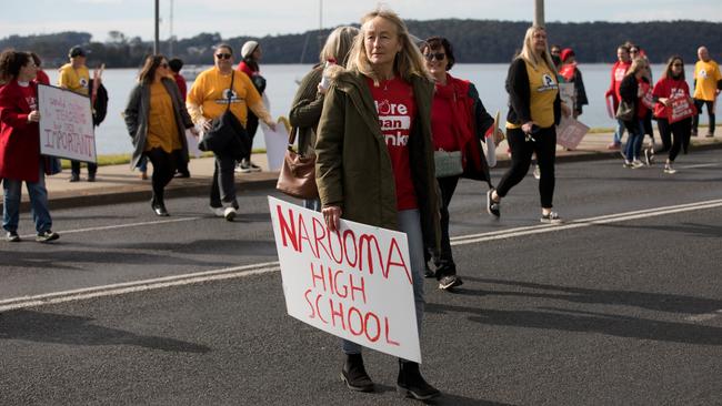
{"type": "MultiPolygon", "coordinates": [[[[48,190],[46,189],[46,173],[42,168],[42,160],[39,168],[38,182],[26,182],[28,195],[30,195],[30,207],[32,221],[36,223],[36,231],[42,233],[52,227],[52,219],[48,212],[48,190]]],[[[18,220],[20,217],[20,196],[22,181],[14,179],[4,179],[2,187],[4,189],[2,227],[6,231],[18,231],[18,220]]]]}

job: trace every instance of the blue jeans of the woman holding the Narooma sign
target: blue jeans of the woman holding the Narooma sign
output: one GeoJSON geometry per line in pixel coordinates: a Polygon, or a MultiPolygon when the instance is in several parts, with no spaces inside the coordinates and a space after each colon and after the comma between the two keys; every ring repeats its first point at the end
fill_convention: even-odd
{"type": "MultiPolygon", "coordinates": [[[[411,278],[413,281],[413,302],[417,307],[417,327],[421,336],[421,318],[423,318],[423,272],[425,261],[423,258],[423,237],[421,234],[421,219],[419,210],[402,210],[399,212],[397,220],[399,231],[407,233],[409,241],[409,260],[411,261],[411,278]]],[[[361,345],[342,339],[342,349],[344,354],[361,354],[361,345]]]]}

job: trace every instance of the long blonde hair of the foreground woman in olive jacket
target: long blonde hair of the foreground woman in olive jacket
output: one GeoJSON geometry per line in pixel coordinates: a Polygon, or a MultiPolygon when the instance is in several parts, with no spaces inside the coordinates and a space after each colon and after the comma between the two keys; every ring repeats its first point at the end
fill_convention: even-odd
{"type": "Polygon", "coordinates": [[[369,62],[369,58],[367,57],[365,47],[363,45],[363,41],[365,39],[365,24],[377,17],[381,17],[382,19],[391,22],[397,27],[397,34],[399,35],[399,42],[401,42],[401,51],[397,53],[393,60],[394,74],[400,75],[407,81],[411,80],[411,77],[413,75],[431,80],[431,77],[427,72],[421,51],[413,43],[407,24],[403,22],[403,20],[401,20],[399,14],[384,8],[377,8],[370,13],[363,16],[361,19],[361,30],[353,41],[353,47],[349,52],[347,69],[350,71],[360,72],[373,79],[374,82],[379,81],[380,78],[377,78],[375,73],[373,72],[371,62],[369,62]]]}

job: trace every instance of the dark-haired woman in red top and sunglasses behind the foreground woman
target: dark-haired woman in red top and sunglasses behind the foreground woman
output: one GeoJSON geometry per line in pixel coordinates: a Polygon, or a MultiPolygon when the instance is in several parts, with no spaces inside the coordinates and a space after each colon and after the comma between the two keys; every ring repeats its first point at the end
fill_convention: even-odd
{"type": "MultiPolygon", "coordinates": [[[[492,187],[481,142],[487,141],[487,131],[494,124],[494,119],[479,100],[473,83],[448,73],[455,62],[449,40],[431,37],[421,45],[421,52],[435,83],[431,132],[441,194],[441,252],[433,258],[435,273],[427,276],[435,276],[440,290],[450,290],[463,282],[457,276],[451,253],[449,204],[461,176],[483,181],[492,187]],[[442,161],[453,161],[453,164],[442,161]]],[[[493,142],[493,139],[489,140],[493,142]]]]}

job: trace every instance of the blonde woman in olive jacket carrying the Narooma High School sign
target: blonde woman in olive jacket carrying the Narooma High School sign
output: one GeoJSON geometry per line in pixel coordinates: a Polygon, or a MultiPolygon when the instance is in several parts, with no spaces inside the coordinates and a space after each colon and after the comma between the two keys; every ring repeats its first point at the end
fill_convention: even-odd
{"type": "MultiPolygon", "coordinates": [[[[417,324],[423,316],[424,243],[439,246],[439,207],[431,142],[433,82],[407,26],[377,9],[361,19],[345,70],[325,94],[315,142],[317,183],[330,231],[339,220],[407,233],[417,324]]],[[[341,377],[371,392],[361,346],[343,342],[341,377]]],[[[419,364],[399,359],[397,389],[429,399],[439,390],[419,364]]]]}

